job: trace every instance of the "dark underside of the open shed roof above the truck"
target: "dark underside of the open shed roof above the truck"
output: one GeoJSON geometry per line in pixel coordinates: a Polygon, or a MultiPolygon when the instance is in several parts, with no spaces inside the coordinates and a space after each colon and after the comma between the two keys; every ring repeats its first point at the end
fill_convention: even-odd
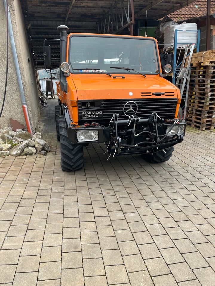
{"type": "MultiPolygon", "coordinates": [[[[145,19],[146,10],[147,19],[155,21],[194,1],[195,0],[133,0],[135,23],[137,23],[138,20],[143,21],[145,19]]],[[[66,24],[69,27],[69,32],[97,33],[100,20],[105,13],[113,7],[114,3],[123,3],[126,8],[130,1],[20,0],[20,3],[35,68],[42,69],[44,68],[43,41],[45,38],[59,39],[59,31],[57,31],[59,25],[66,24]]],[[[119,21],[121,17],[119,13],[120,10],[117,8],[113,12],[113,22],[116,19],[119,21]]],[[[129,18],[131,18],[131,11],[129,18]]],[[[107,26],[108,21],[105,23],[107,26]]],[[[129,33],[128,27],[123,33],[129,33]]],[[[52,50],[52,65],[56,67],[59,65],[59,42],[54,41],[52,44],[54,46],[52,50]]]]}

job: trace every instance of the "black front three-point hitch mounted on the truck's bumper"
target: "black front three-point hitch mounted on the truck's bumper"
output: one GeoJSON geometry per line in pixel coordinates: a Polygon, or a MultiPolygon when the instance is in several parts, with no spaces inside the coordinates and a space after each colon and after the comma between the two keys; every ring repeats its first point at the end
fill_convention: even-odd
{"type": "Polygon", "coordinates": [[[112,130],[112,134],[110,136],[110,142],[106,143],[107,151],[105,153],[109,154],[108,159],[111,156],[114,157],[126,154],[156,153],[159,150],[164,150],[165,148],[182,142],[183,135],[179,133],[171,136],[171,138],[167,138],[168,133],[173,129],[173,127],[176,124],[179,124],[179,119],[171,120],[172,125],[168,125],[171,126],[171,128],[168,130],[168,133],[159,135],[158,125],[163,125],[164,123],[169,122],[160,118],[156,112],[153,112],[147,119],[140,119],[138,116],[136,116],[136,114],[128,115],[128,121],[119,120],[119,114],[113,114],[109,124],[110,130],[112,130]],[[141,128],[141,124],[147,124],[150,131],[145,129],[143,131],[139,130],[139,128],[141,128]],[[119,133],[122,132],[119,131],[118,127],[121,125],[127,125],[127,129],[129,130],[130,134],[129,140],[127,140],[129,141],[129,144],[127,144],[127,142],[125,143],[125,140],[122,142],[122,138],[119,136],[119,133]],[[136,137],[143,135],[147,135],[145,139],[146,141],[137,142],[136,137]]]}

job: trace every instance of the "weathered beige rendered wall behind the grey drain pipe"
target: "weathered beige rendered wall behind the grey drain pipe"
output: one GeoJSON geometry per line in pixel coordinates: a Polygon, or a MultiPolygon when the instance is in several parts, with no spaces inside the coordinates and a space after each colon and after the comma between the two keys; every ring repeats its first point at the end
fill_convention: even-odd
{"type": "MultiPolygon", "coordinates": [[[[16,52],[19,61],[19,68],[26,98],[26,104],[32,130],[35,130],[38,116],[39,116],[39,97],[36,83],[36,76],[34,72],[33,61],[28,46],[27,33],[24,26],[24,18],[21,12],[19,0],[8,0],[10,7],[10,17],[13,27],[13,35],[16,45],[16,52]]],[[[0,108],[4,95],[4,83],[6,72],[6,15],[4,11],[3,1],[0,1],[0,108]]],[[[3,113],[0,119],[0,128],[10,126],[10,117],[18,120],[24,126],[25,120],[21,107],[21,99],[19,93],[19,86],[16,76],[16,70],[13,61],[12,50],[9,40],[9,64],[8,64],[8,78],[7,78],[7,93],[4,104],[3,113]]]]}

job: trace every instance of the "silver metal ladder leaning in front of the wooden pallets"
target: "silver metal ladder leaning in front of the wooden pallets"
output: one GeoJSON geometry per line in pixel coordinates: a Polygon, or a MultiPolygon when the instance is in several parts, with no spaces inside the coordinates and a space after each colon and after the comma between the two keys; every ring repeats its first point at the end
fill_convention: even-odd
{"type": "MultiPolygon", "coordinates": [[[[185,121],[186,109],[187,109],[187,101],[188,101],[188,89],[189,89],[190,76],[191,76],[191,65],[190,65],[190,63],[191,63],[191,58],[192,58],[192,55],[193,55],[193,50],[195,48],[195,43],[188,44],[186,46],[182,46],[181,49],[180,49],[180,52],[179,52],[178,60],[179,60],[179,57],[180,57],[180,54],[182,52],[182,48],[183,47],[185,48],[185,53],[184,53],[184,57],[183,57],[183,60],[182,60],[182,63],[181,63],[181,67],[180,67],[179,73],[177,74],[176,77],[174,76],[176,74],[176,69],[175,69],[175,71],[173,72],[173,77],[177,78],[175,86],[177,88],[179,88],[179,90],[180,90],[181,100],[182,100],[182,97],[184,95],[185,85],[187,83],[186,94],[185,94],[185,97],[183,97],[183,99],[185,100],[185,106],[184,106],[184,109],[183,109],[184,114],[183,114],[182,108],[181,107],[179,108],[180,117],[182,117],[183,121],[185,121]],[[189,49],[190,49],[190,52],[188,52],[189,49]],[[188,61],[187,61],[187,66],[185,67],[185,61],[186,61],[187,57],[188,57],[188,61]]],[[[178,65],[178,61],[176,63],[176,66],[177,65],[178,65]]]]}

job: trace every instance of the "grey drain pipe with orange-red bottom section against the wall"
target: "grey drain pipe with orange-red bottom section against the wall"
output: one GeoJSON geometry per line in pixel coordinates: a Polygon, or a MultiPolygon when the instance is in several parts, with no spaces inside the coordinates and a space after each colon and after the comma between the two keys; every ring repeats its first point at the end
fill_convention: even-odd
{"type": "Polygon", "coordinates": [[[20,97],[21,97],[21,102],[22,102],[22,110],[23,110],[27,130],[31,135],[33,135],[32,130],[31,130],[28,112],[27,112],[27,105],[26,105],[26,101],[25,101],[24,89],[23,89],[21,74],[20,74],[20,69],[19,69],[19,62],[18,62],[18,58],[17,58],[17,54],[16,54],[16,46],[15,46],[14,37],[13,37],[13,29],[12,29],[12,24],[11,24],[9,6],[8,6],[6,0],[3,0],[3,2],[4,2],[4,10],[5,10],[6,16],[7,16],[7,7],[8,7],[8,30],[9,30],[9,37],[10,37],[10,45],[11,45],[11,49],[12,49],[12,53],[13,53],[13,60],[14,60],[17,80],[18,80],[18,84],[19,84],[19,92],[20,92],[20,97]]]}

